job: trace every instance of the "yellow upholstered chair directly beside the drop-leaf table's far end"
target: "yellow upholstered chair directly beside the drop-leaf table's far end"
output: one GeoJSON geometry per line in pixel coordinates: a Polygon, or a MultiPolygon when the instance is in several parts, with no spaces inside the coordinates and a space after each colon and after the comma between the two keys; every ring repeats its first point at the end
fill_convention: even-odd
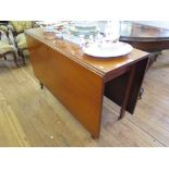
{"type": "Polygon", "coordinates": [[[12,31],[15,39],[15,45],[19,51],[19,56],[22,57],[23,63],[26,64],[25,62],[25,57],[24,57],[24,50],[27,49],[27,44],[26,44],[26,37],[24,34],[25,29],[32,28],[33,27],[33,22],[32,21],[10,21],[10,24],[8,27],[12,31]]]}

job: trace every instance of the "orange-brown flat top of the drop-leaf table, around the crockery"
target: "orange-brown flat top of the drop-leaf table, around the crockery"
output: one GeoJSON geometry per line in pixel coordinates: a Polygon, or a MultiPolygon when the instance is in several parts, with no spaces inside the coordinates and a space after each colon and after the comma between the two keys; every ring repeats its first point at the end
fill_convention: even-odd
{"type": "Polygon", "coordinates": [[[123,57],[100,59],[85,55],[76,44],[57,38],[55,33],[44,32],[44,28],[41,27],[27,29],[26,34],[63,53],[75,62],[79,62],[100,76],[105,76],[118,68],[132,64],[148,55],[145,51],[133,49],[131,53],[123,57]]]}

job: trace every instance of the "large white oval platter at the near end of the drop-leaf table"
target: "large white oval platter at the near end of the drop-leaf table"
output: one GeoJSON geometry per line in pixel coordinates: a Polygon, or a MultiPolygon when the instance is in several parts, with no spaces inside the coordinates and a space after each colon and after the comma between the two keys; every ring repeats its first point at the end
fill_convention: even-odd
{"type": "Polygon", "coordinates": [[[83,47],[83,51],[92,57],[97,58],[111,58],[111,57],[121,57],[130,53],[133,50],[133,47],[126,43],[107,43],[107,44],[90,44],[86,47],[83,47]]]}

